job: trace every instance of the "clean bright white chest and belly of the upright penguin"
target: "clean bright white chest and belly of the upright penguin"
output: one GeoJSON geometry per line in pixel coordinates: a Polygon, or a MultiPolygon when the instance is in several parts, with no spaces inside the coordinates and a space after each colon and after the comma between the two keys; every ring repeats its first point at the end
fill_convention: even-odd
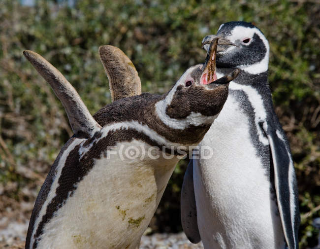
{"type": "Polygon", "coordinates": [[[247,114],[228,96],[194,160],[198,226],[205,249],[281,249],[284,237],[271,183],[252,142],[247,114]]]}

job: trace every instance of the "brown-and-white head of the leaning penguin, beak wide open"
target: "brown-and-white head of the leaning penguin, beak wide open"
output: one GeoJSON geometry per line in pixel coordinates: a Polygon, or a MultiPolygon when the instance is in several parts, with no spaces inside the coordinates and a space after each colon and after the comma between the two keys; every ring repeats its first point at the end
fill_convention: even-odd
{"type": "Polygon", "coordinates": [[[212,124],[228,96],[228,83],[240,70],[217,79],[217,41],[211,42],[205,64],[189,68],[156,104],[160,119],[174,129],[212,124]]]}

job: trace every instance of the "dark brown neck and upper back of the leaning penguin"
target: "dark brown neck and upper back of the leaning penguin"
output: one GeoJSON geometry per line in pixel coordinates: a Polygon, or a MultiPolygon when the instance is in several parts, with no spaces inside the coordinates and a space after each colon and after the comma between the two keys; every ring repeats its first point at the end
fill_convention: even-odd
{"type": "MultiPolygon", "coordinates": [[[[148,142],[169,147],[197,144],[210,128],[210,125],[188,126],[176,129],[164,123],[161,115],[157,114],[156,104],[166,95],[141,94],[126,99],[117,100],[100,109],[94,118],[101,126],[112,126],[114,129],[133,129],[144,133],[148,142]]],[[[165,109],[164,109],[165,111],[165,109]]],[[[132,131],[133,131],[132,130],[132,131]]],[[[171,148],[170,148],[171,149],[171,148]]],[[[187,148],[189,151],[189,149],[187,148]]]]}

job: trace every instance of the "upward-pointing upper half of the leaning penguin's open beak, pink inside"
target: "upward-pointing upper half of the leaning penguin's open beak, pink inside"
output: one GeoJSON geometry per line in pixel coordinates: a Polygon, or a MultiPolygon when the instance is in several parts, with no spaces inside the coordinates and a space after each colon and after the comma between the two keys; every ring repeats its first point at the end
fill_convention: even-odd
{"type": "Polygon", "coordinates": [[[216,74],[216,55],[217,55],[217,45],[218,37],[215,37],[210,42],[209,52],[204,63],[203,71],[200,78],[200,84],[207,85],[211,82],[217,80],[216,74]]]}

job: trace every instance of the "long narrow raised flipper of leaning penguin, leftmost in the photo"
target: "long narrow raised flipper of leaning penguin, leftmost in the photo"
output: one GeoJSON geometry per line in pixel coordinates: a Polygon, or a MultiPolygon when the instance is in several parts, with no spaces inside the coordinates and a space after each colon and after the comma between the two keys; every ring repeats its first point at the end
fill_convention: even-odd
{"type": "Polygon", "coordinates": [[[40,75],[51,85],[53,91],[64,105],[74,134],[81,132],[92,137],[101,126],[90,114],[79,94],[64,75],[39,54],[25,50],[24,56],[40,75]]]}

